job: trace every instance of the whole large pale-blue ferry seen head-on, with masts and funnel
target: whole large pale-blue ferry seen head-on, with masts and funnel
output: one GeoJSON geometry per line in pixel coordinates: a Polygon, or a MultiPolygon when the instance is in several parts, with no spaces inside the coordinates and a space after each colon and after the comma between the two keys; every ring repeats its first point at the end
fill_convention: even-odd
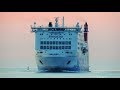
{"type": "Polygon", "coordinates": [[[88,24],[82,29],[79,23],[75,27],[59,26],[58,17],[55,26],[49,22],[47,27],[31,26],[35,33],[35,50],[38,70],[47,71],[89,71],[88,61],[88,24]]]}

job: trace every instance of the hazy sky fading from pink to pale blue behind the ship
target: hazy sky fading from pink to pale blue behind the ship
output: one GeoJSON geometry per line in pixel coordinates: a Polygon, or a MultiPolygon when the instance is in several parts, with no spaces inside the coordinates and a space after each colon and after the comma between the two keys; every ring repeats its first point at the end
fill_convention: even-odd
{"type": "Polygon", "coordinates": [[[88,22],[90,70],[120,70],[120,12],[0,12],[0,67],[36,67],[30,25],[63,16],[65,26],[88,22]]]}

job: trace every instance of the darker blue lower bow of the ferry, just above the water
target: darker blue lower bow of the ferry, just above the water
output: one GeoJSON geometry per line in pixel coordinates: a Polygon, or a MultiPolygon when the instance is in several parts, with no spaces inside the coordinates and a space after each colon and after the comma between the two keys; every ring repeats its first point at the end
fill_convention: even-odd
{"type": "Polygon", "coordinates": [[[63,71],[88,71],[87,69],[82,70],[84,67],[80,65],[79,57],[47,57],[47,56],[36,56],[36,63],[38,71],[52,71],[52,72],[63,72],[63,71]]]}

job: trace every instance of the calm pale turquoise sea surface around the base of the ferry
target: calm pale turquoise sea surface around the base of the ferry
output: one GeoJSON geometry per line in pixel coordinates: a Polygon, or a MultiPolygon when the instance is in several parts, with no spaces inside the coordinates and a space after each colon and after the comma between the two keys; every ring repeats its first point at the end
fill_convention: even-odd
{"type": "Polygon", "coordinates": [[[120,71],[38,72],[36,68],[0,68],[0,78],[120,78],[120,71]]]}

